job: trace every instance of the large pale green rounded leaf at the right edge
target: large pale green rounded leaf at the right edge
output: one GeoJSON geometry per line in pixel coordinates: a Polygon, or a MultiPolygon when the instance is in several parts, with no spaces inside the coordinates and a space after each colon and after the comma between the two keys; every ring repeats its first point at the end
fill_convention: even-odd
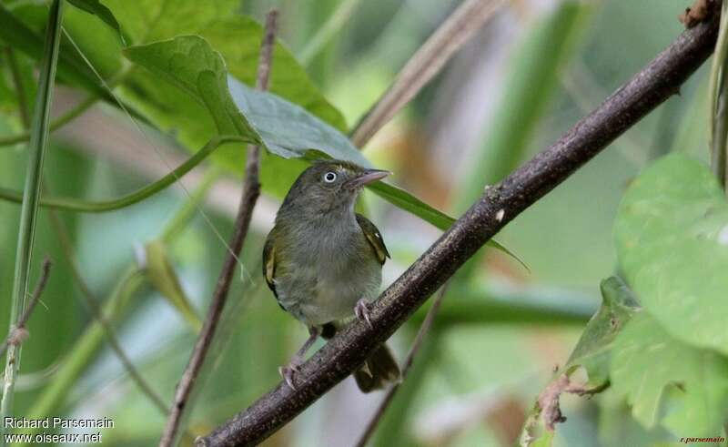
{"type": "Polygon", "coordinates": [[[673,337],[728,353],[728,204],[708,168],[673,154],[645,169],[614,233],[642,306],[673,337]]]}

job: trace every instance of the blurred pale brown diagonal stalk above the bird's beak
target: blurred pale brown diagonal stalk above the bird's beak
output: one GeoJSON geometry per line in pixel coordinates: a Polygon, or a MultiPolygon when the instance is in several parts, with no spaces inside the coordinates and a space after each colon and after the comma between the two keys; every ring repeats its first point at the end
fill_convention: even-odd
{"type": "Polygon", "coordinates": [[[354,146],[364,147],[505,3],[506,0],[466,0],[460,5],[410,57],[389,90],[361,118],[351,135],[354,146]]]}

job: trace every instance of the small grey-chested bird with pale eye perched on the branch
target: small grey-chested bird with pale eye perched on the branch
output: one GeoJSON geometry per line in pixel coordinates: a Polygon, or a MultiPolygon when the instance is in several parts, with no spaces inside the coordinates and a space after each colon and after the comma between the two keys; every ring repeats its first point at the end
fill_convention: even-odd
{"type": "MultiPolygon", "coordinates": [[[[377,227],[354,205],[361,188],[387,175],[345,161],[319,161],[301,173],[278,209],[263,249],[263,275],[280,307],[310,334],[280,369],[291,388],[319,336],[333,337],[354,315],[371,325],[369,302],[379,295],[389,252],[377,227]]],[[[382,345],[354,378],[361,391],[378,390],[399,380],[399,367],[382,345]]]]}

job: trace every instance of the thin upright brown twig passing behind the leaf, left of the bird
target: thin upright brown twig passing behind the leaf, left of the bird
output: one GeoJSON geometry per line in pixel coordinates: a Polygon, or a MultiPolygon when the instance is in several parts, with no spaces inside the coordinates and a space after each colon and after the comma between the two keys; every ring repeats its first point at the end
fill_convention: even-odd
{"type": "MultiPolygon", "coordinates": [[[[260,90],[268,89],[268,75],[270,73],[271,57],[273,56],[273,47],[276,38],[277,19],[278,11],[275,9],[271,10],[266,17],[266,31],[260,46],[258,77],[256,81],[256,87],[260,90]]],[[[235,269],[238,266],[238,255],[243,249],[243,242],[248,234],[253,208],[255,208],[256,201],[260,195],[260,183],[258,180],[259,165],[260,148],[251,146],[248,149],[248,161],[245,168],[245,179],[243,180],[243,194],[240,198],[238,216],[235,219],[235,231],[230,241],[230,252],[225,259],[225,264],[217,279],[215,292],[212,296],[212,303],[210,304],[209,310],[207,310],[207,318],[197,337],[197,343],[195,344],[194,350],[192,350],[187,368],[177,384],[175,401],[169,413],[165,431],[162,433],[159,447],[170,447],[174,444],[182,415],[187,407],[187,400],[192,392],[192,388],[195,386],[197,376],[202,370],[202,365],[207,357],[207,351],[210,349],[212,340],[215,337],[217,324],[227,301],[227,292],[230,290],[230,284],[232,283],[235,269]]]]}

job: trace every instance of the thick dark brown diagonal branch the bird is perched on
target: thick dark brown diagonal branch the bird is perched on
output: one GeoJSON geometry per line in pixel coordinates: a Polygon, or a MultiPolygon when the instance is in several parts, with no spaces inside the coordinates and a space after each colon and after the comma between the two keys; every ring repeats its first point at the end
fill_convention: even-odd
{"type": "Polygon", "coordinates": [[[483,196],[374,304],[373,329],[354,322],[308,360],[297,390],[278,387],[219,426],[198,445],[253,445],[318,400],[394,333],[487,240],[524,209],[569,178],[654,107],[677,93],[713,52],[717,17],[695,25],[547,148],[483,196]]]}

